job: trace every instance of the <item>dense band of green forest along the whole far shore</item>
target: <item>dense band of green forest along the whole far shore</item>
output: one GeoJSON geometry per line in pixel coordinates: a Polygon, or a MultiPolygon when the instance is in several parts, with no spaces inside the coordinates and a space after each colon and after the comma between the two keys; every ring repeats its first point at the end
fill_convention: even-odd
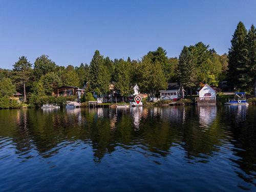
{"type": "Polygon", "coordinates": [[[122,96],[133,93],[138,84],[140,92],[150,96],[167,88],[168,82],[180,82],[186,94],[193,94],[201,84],[218,87],[227,80],[238,91],[253,93],[256,86],[256,29],[247,31],[239,22],[231,39],[228,54],[219,55],[214,48],[198,42],[184,46],[179,57],[168,58],[159,47],[149,51],[141,59],[110,59],[95,51],[90,65],[79,67],[58,66],[47,55],[41,55],[33,63],[20,56],[12,70],[0,69],[0,97],[9,97],[16,91],[24,96],[24,102],[50,96],[55,88],[76,86],[87,93],[108,94],[110,84],[122,96]]]}

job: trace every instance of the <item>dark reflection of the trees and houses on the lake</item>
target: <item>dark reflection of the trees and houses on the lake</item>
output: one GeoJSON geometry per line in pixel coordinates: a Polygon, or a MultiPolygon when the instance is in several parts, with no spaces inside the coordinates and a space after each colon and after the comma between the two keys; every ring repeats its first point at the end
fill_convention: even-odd
{"type": "Polygon", "coordinates": [[[119,147],[161,158],[180,150],[188,163],[231,155],[227,158],[246,173],[237,175],[253,183],[255,111],[254,106],[0,110],[0,151],[11,143],[26,161],[79,143],[92,147],[96,163],[119,147]]]}

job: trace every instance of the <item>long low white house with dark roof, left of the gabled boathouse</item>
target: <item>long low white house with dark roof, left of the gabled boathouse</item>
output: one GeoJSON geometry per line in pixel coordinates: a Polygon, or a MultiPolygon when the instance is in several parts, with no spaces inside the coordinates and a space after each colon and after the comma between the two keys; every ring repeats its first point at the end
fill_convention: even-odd
{"type": "Polygon", "coordinates": [[[184,98],[184,90],[179,83],[168,83],[168,89],[160,92],[160,100],[173,100],[184,98]]]}

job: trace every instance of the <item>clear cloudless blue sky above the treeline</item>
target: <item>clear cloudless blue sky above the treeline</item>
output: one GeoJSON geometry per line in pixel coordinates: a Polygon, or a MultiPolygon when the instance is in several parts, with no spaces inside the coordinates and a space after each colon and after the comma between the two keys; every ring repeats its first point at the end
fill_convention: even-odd
{"type": "Polygon", "coordinates": [[[256,25],[255,0],[0,0],[0,68],[42,54],[78,66],[96,49],[111,59],[138,59],[161,46],[174,57],[198,41],[223,54],[240,20],[247,29],[256,25]]]}

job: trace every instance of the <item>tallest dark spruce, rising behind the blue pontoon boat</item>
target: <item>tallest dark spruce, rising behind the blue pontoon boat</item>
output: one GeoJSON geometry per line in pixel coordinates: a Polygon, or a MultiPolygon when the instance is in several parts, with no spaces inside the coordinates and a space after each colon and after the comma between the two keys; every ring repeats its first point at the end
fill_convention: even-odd
{"type": "Polygon", "coordinates": [[[246,35],[247,31],[244,24],[239,22],[228,51],[228,79],[237,90],[245,90],[249,80],[246,35]]]}

